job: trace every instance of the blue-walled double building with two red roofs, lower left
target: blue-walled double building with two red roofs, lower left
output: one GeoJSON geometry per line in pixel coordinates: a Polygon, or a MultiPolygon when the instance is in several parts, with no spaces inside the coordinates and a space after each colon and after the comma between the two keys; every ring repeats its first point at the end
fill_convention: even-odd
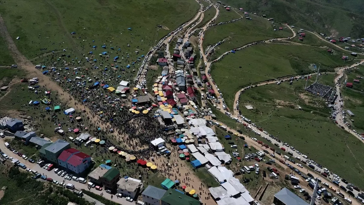
{"type": "Polygon", "coordinates": [[[58,165],[76,174],[83,173],[91,164],[91,156],[74,148],[64,150],[58,157],[58,165]]]}

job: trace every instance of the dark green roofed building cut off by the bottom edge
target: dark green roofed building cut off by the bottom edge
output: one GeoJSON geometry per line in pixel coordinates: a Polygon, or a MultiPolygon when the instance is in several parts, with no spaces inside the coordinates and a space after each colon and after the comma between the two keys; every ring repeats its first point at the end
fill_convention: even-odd
{"type": "Polygon", "coordinates": [[[161,198],[161,205],[199,205],[200,201],[174,189],[168,189],[161,198]]]}

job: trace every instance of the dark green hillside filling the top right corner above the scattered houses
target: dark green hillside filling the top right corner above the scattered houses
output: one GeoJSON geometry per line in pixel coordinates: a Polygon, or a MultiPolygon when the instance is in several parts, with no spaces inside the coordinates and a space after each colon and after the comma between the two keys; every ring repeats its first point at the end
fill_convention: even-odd
{"type": "Polygon", "coordinates": [[[359,38],[364,35],[360,21],[364,16],[363,1],[349,0],[343,4],[339,0],[225,0],[223,3],[328,36],[359,38]]]}

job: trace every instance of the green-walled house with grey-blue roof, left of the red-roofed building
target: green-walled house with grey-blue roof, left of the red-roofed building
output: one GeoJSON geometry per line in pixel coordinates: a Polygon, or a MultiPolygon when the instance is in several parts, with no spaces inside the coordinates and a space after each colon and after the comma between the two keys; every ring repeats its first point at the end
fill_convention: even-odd
{"type": "Polygon", "coordinates": [[[70,143],[59,139],[44,148],[45,156],[42,157],[50,162],[58,164],[58,156],[63,152],[63,150],[67,150],[69,148],[71,148],[70,143]]]}

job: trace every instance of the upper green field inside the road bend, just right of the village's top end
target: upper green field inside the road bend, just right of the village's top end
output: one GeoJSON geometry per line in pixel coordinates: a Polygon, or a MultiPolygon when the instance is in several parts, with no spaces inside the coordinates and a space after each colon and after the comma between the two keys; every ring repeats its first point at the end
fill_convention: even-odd
{"type": "Polygon", "coordinates": [[[222,53],[250,42],[273,38],[286,38],[289,36],[292,36],[292,32],[283,25],[274,26],[272,22],[264,18],[252,16],[252,20],[244,18],[233,23],[210,27],[205,32],[203,48],[206,49],[208,45],[213,45],[222,39],[226,39],[224,43],[215,48],[214,54],[210,57],[211,59],[216,59],[222,53]],[[281,26],[283,27],[282,31],[273,31],[274,28],[278,29],[281,26]]]}

